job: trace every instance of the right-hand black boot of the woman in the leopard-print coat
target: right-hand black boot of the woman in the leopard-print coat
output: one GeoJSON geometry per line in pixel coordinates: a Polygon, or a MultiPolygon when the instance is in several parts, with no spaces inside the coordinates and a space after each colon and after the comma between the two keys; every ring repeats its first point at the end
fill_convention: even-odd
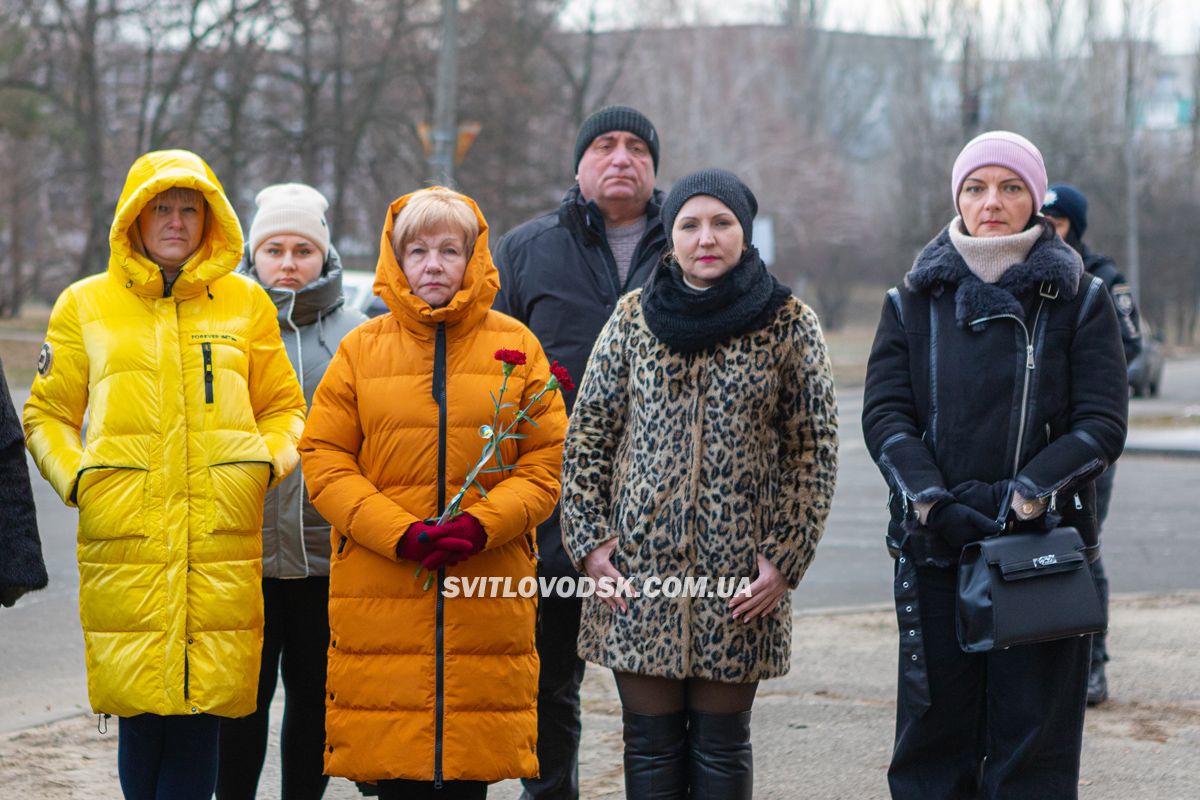
{"type": "Polygon", "coordinates": [[[750,800],[754,796],[750,711],[688,711],[688,757],[691,800],[750,800]]]}

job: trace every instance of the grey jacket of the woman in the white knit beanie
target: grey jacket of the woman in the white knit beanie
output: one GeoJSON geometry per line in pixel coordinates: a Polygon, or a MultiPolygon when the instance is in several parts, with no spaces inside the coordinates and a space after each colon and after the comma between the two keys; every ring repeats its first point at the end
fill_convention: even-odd
{"type": "MultiPolygon", "coordinates": [[[[248,258],[239,271],[256,281],[248,258]]],[[[259,281],[259,283],[262,283],[259,281]]],[[[278,309],[280,336],[292,368],[300,379],[305,402],[312,395],[337,351],[342,337],[366,317],[347,308],[342,296],[342,259],[329,248],[325,273],[300,291],[266,289],[278,309]]],[[[295,470],[266,493],[263,506],[263,577],[306,578],[329,575],[329,523],[308,503],[301,470],[295,470]]]]}

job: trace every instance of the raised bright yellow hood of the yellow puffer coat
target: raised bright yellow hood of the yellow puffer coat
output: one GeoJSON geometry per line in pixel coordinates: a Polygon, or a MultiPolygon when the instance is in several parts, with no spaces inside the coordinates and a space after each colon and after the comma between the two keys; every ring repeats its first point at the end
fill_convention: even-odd
{"type": "Polygon", "coordinates": [[[217,176],[204,160],[187,150],[156,150],[133,162],[116,203],[109,229],[108,272],[136,294],[161,297],[162,270],[145,254],[136,233],[138,215],[169,188],[193,188],[204,196],[208,212],[196,253],[180,269],[172,294],[185,299],[200,294],[241,261],[241,223],[217,176]]]}

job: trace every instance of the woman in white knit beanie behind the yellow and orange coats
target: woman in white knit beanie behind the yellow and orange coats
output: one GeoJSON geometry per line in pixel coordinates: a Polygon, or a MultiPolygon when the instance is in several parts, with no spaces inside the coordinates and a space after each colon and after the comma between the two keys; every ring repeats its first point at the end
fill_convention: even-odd
{"type": "MultiPolygon", "coordinates": [[[[304,184],[277,184],[259,192],[254,201],[258,209],[240,270],[275,301],[280,335],[311,404],[338,342],[366,318],[344,305],[341,259],[330,243],[325,197],[304,184]]],[[[298,469],[265,500],[266,626],[258,710],[222,723],[220,800],[252,799],[256,794],[266,754],[268,714],[281,670],[286,692],[282,796],[317,799],[325,792],[329,555],[329,523],[308,504],[298,469]]]]}

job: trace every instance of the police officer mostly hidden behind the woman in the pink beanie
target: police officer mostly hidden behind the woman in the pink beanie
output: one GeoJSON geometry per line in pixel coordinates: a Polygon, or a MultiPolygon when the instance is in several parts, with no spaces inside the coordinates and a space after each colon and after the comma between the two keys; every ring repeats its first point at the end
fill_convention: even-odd
{"type": "MultiPolygon", "coordinates": [[[[1126,363],[1132,363],[1141,353],[1141,325],[1138,317],[1138,306],[1133,299],[1133,288],[1124,276],[1117,271],[1112,259],[1099,253],[1093,253],[1084,243],[1084,233],[1087,230],[1087,198],[1078,188],[1069,184],[1054,184],[1046,190],[1045,203],[1042,213],[1054,223],[1055,230],[1064,242],[1070,245],[1084,259],[1084,269],[1094,275],[1108,287],[1112,296],[1112,305],[1117,309],[1117,320],[1121,324],[1121,339],[1124,343],[1126,363]]],[[[1109,501],[1112,499],[1112,479],[1115,477],[1116,464],[1096,479],[1096,516],[1100,530],[1104,529],[1104,519],[1109,516],[1109,501]]],[[[1105,612],[1109,606],[1109,579],[1104,575],[1103,557],[1092,563],[1092,572],[1100,590],[1100,600],[1104,602],[1105,612]]],[[[1109,685],[1104,676],[1104,662],[1109,660],[1106,646],[1106,634],[1097,633],[1092,637],[1092,666],[1087,674],[1087,704],[1099,705],[1109,697],[1109,685]]]]}

